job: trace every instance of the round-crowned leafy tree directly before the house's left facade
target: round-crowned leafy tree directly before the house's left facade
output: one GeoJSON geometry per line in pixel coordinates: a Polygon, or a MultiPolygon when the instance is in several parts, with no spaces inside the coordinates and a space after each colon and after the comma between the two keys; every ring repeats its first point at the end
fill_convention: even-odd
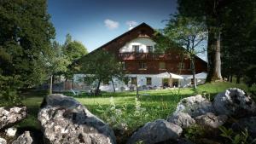
{"type": "MultiPolygon", "coordinates": [[[[94,81],[97,81],[96,95],[99,94],[102,82],[112,81],[113,78],[124,78],[124,73],[119,61],[108,51],[98,50],[90,55],[85,55],[78,61],[81,72],[94,81]]],[[[114,89],[114,87],[113,87],[114,89]]]]}

